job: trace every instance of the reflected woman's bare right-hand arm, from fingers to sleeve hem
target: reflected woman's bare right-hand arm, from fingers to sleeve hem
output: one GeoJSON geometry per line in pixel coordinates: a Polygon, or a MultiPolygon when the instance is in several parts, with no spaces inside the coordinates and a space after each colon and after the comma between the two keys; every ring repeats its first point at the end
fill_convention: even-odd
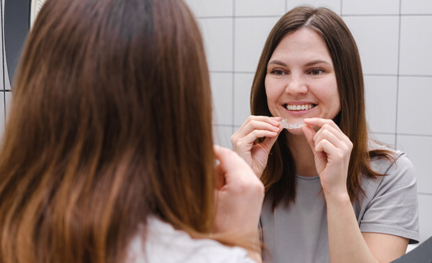
{"type": "Polygon", "coordinates": [[[346,188],[352,142],[332,120],[312,118],[304,123],[308,126],[302,130],[314,151],[327,204],[331,262],[390,262],[403,255],[407,239],[360,232],[346,188]],[[315,132],[311,126],[320,129],[315,132]]]}

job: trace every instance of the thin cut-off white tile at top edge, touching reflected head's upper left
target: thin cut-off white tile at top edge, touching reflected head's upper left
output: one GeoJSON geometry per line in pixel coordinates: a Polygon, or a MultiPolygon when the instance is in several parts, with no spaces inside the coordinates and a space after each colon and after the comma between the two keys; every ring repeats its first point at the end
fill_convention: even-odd
{"type": "Polygon", "coordinates": [[[284,15],[285,0],[236,0],[236,16],[284,15]]]}

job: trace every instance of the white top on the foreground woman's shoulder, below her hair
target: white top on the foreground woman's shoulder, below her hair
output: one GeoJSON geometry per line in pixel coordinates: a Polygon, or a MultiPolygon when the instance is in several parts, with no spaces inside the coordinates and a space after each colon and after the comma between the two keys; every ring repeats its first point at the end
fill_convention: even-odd
{"type": "Polygon", "coordinates": [[[228,247],[212,239],[192,239],[153,216],[148,218],[146,241],[141,234],[130,244],[128,263],[256,263],[240,247],[228,247]]]}

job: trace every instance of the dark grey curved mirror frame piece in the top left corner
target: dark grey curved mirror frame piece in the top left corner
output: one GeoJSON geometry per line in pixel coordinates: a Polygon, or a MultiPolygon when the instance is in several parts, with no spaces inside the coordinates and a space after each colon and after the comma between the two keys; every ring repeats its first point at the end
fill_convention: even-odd
{"type": "Polygon", "coordinates": [[[5,0],[4,3],[4,44],[10,82],[29,33],[30,7],[31,0],[5,0]]]}

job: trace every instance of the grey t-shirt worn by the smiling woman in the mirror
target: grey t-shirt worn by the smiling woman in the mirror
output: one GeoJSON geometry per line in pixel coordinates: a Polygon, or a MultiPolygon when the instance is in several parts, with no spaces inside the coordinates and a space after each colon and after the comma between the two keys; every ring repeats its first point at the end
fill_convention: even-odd
{"type": "MultiPolygon", "coordinates": [[[[394,234],[419,240],[419,219],[415,169],[406,153],[396,151],[390,163],[383,158],[371,161],[380,174],[376,179],[362,176],[366,196],[353,208],[360,231],[394,234]]],[[[330,262],[327,232],[327,211],[318,176],[297,176],[297,197],[294,204],[272,211],[265,201],[261,215],[263,260],[272,263],[330,262]]]]}

